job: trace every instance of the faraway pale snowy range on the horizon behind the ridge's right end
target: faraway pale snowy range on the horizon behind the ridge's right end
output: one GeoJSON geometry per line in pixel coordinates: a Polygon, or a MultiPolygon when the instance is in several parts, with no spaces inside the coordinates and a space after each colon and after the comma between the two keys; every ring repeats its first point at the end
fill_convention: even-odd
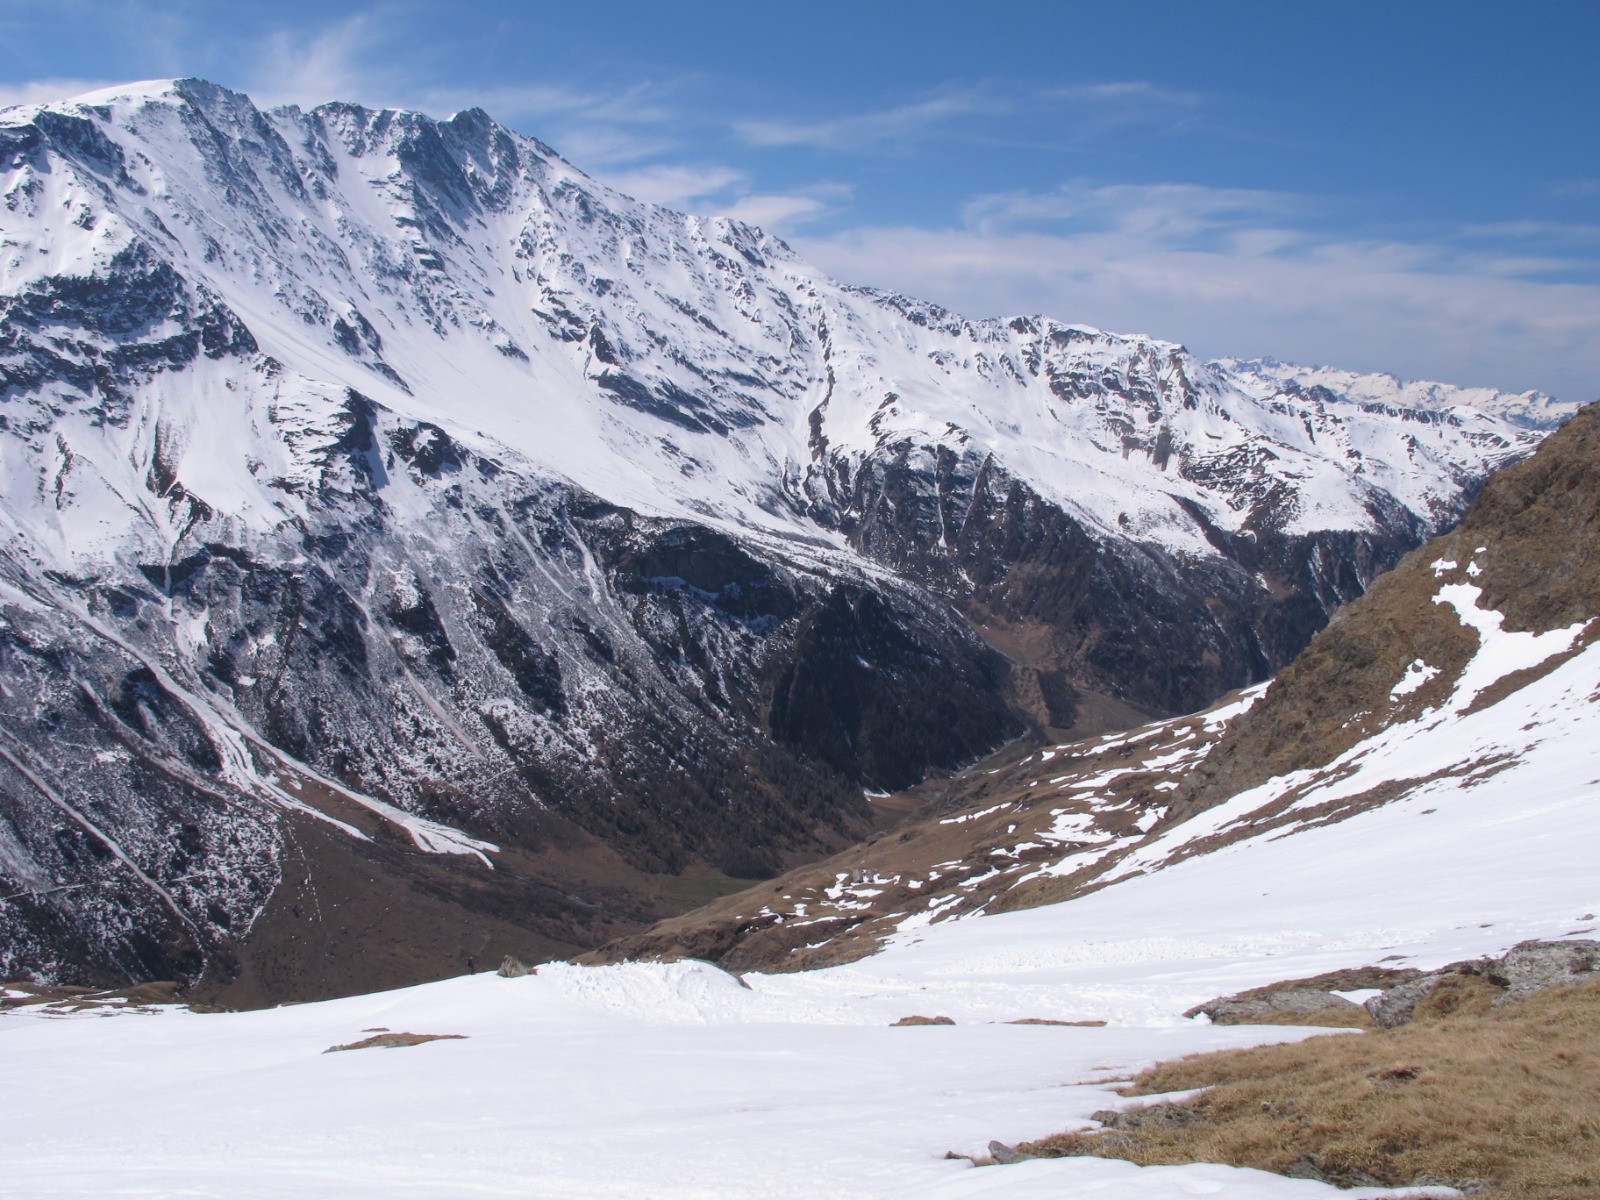
{"type": "Polygon", "coordinates": [[[1464,405],[1504,418],[1523,429],[1555,429],[1582,405],[1544,392],[1502,392],[1496,387],[1461,387],[1394,374],[1342,371],[1336,366],[1299,366],[1277,358],[1218,358],[1218,366],[1251,395],[1267,398],[1286,386],[1322,387],[1360,405],[1445,410],[1464,405]]]}

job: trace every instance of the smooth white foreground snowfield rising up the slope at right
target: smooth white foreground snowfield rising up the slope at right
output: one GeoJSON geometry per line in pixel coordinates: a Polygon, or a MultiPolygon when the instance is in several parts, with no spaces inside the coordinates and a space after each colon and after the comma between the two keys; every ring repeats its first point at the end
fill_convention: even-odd
{"type": "MultiPolygon", "coordinates": [[[[698,963],[549,965],[264,1013],[13,1014],[0,1064],[27,1102],[8,1106],[0,1178],[40,1198],[1381,1195],[1222,1166],[942,1155],[1086,1125],[1117,1102],[1094,1080],[1141,1064],[1302,1035],[1181,1016],[1213,995],[1586,930],[1597,694],[1590,646],[1485,712],[1410,726],[1413,765],[1424,749],[1515,750],[1472,786],[749,987],[698,963]],[[888,1027],[912,1013],[957,1024],[888,1027]],[[1019,1018],[1109,1026],[998,1024],[1019,1018]],[[376,1026],[467,1040],[322,1053],[376,1026]]],[[[1384,778],[1398,754],[1374,747],[1358,771],[1384,778]]]]}

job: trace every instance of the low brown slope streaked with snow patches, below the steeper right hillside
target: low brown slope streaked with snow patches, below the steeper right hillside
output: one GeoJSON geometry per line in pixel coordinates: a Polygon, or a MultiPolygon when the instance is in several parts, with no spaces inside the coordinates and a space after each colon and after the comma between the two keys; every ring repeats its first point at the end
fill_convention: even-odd
{"type": "Polygon", "coordinates": [[[869,842],[578,962],[690,957],[741,971],[811,970],[875,952],[909,915],[942,922],[1066,899],[1142,838],[1173,779],[1214,738],[1200,714],[1125,736],[1008,746],[952,779],[875,798],[886,829],[869,842]],[[1090,779],[1098,782],[1085,787],[1090,779]],[[1083,870],[1050,874],[1102,850],[1083,870]]]}

